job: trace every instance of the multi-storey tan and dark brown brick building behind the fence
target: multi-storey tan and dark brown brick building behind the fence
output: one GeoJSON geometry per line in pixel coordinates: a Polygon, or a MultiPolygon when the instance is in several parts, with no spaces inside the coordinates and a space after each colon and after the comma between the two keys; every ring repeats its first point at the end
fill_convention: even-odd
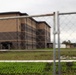
{"type": "MultiPolygon", "coordinates": [[[[26,13],[6,12],[0,17],[26,16],[26,13]]],[[[47,48],[50,26],[33,18],[0,20],[0,49],[47,48]]]]}

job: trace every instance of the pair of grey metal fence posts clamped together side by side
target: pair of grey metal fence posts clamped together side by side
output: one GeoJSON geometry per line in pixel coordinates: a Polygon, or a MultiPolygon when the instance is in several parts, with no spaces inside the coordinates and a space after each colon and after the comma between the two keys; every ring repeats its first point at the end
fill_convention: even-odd
{"type": "Polygon", "coordinates": [[[58,74],[61,75],[60,63],[60,25],[59,25],[59,12],[55,12],[54,26],[53,26],[53,75],[56,75],[56,34],[58,36],[58,74]]]}

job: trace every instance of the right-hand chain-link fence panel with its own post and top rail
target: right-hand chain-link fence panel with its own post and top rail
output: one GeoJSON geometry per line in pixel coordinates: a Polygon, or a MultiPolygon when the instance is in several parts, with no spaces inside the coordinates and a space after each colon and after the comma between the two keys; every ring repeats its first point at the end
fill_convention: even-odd
{"type": "MultiPolygon", "coordinates": [[[[56,24],[57,30],[55,31],[58,36],[56,37],[56,44],[54,48],[58,48],[58,64],[59,64],[59,75],[65,75],[68,74],[63,73],[63,67],[61,69],[61,63],[60,60],[67,60],[67,62],[70,62],[76,60],[76,12],[69,12],[69,13],[56,13],[56,24]],[[57,45],[57,47],[56,47],[57,45]],[[70,61],[72,60],[72,61],[70,61]]],[[[55,30],[55,29],[54,29],[55,30]]],[[[54,33],[54,34],[55,34],[54,33]]],[[[56,54],[55,54],[56,55],[56,54]]],[[[66,63],[67,64],[67,63],[66,63]]],[[[68,63],[69,64],[69,63],[68,63]]],[[[76,65],[75,65],[76,66],[76,65]]],[[[71,67],[70,67],[71,68],[71,67]]],[[[56,68],[54,68],[55,70],[56,68]]],[[[74,70],[71,68],[69,71],[71,71],[71,75],[75,72],[72,72],[74,70]]],[[[56,71],[56,70],[55,70],[56,71]]],[[[74,70],[76,71],[76,70],[74,70]]],[[[56,73],[56,72],[54,72],[56,73]]]]}

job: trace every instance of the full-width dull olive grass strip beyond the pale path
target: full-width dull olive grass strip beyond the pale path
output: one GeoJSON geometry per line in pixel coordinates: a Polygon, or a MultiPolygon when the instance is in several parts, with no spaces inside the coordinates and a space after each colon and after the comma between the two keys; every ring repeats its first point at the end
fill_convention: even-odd
{"type": "MultiPolygon", "coordinates": [[[[61,56],[76,57],[76,50],[61,49],[61,56]]],[[[58,51],[56,50],[56,59],[58,51]]],[[[1,51],[0,60],[53,60],[53,50],[47,51],[1,51]]]]}

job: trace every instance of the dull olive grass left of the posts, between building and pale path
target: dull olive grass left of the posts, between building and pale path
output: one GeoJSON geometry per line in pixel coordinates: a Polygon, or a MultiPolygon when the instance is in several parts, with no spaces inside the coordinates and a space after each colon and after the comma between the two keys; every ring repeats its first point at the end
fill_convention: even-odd
{"type": "Polygon", "coordinates": [[[0,60],[38,60],[38,59],[47,60],[47,59],[52,59],[51,57],[50,57],[50,52],[43,52],[43,51],[42,52],[31,52],[31,51],[0,52],[0,60]]]}

